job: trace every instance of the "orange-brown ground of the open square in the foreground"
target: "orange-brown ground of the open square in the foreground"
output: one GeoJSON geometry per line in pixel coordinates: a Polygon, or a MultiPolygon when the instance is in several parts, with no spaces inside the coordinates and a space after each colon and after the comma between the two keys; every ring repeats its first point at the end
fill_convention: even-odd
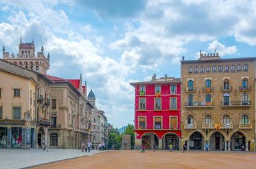
{"type": "Polygon", "coordinates": [[[102,154],[41,165],[40,168],[256,168],[255,152],[199,152],[114,150],[102,154]]]}

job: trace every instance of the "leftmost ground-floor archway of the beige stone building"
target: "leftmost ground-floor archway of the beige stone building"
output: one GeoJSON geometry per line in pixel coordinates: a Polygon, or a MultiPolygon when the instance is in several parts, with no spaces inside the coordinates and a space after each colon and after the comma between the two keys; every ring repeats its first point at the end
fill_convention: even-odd
{"type": "Polygon", "coordinates": [[[196,131],[195,133],[191,134],[189,141],[189,149],[190,150],[202,150],[203,149],[203,136],[201,133],[196,131]]]}

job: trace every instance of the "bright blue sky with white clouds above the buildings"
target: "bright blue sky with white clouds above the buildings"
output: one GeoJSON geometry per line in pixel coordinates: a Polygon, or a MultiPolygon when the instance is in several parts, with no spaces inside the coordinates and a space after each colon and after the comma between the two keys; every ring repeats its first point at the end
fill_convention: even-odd
{"type": "Polygon", "coordinates": [[[49,75],[75,79],[96,96],[115,128],[134,123],[133,81],[168,74],[198,53],[255,57],[256,1],[1,0],[0,46],[18,52],[20,35],[50,54],[49,75]]]}

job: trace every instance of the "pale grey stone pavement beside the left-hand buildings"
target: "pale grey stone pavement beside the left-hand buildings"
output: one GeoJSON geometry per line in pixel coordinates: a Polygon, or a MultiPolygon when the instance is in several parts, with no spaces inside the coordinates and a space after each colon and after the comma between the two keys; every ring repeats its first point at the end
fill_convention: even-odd
{"type": "Polygon", "coordinates": [[[48,149],[48,151],[43,149],[0,149],[0,168],[26,168],[105,151],[91,150],[90,153],[82,153],[81,150],[76,149],[48,149]]]}

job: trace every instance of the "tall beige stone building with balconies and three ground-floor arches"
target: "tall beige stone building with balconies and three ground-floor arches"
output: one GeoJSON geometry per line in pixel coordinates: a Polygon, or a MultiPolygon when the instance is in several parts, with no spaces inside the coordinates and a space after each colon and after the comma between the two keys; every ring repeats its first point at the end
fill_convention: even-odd
{"type": "Polygon", "coordinates": [[[188,149],[255,148],[255,58],[218,53],[181,61],[182,145],[188,149]]]}

